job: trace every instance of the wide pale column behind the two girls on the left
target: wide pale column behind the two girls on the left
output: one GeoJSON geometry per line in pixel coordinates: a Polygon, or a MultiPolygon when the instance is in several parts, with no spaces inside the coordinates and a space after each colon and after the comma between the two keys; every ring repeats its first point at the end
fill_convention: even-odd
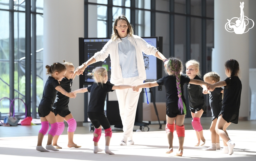
{"type": "MultiPolygon", "coordinates": [[[[43,66],[63,60],[79,66],[78,38],[84,37],[84,0],[44,0],[44,58],[43,66]]],[[[43,70],[46,73],[46,68],[43,70]]],[[[79,76],[72,90],[79,88],[79,76]]],[[[44,84],[48,75],[44,74],[44,84]]],[[[69,109],[77,125],[84,121],[83,95],[70,99],[69,109]]]]}

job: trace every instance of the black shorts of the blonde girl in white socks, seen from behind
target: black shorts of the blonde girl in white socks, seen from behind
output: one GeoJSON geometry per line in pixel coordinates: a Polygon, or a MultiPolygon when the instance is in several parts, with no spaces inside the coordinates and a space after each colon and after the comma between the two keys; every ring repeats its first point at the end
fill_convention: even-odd
{"type": "Polygon", "coordinates": [[[104,112],[88,112],[87,115],[96,129],[99,128],[100,125],[103,127],[103,129],[110,128],[109,121],[105,116],[104,112]]]}

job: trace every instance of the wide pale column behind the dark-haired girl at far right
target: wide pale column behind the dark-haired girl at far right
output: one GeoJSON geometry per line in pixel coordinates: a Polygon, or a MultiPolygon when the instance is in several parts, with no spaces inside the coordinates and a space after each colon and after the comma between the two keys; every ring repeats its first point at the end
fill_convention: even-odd
{"type": "MultiPolygon", "coordinates": [[[[249,16],[249,0],[243,0],[244,14],[249,16]]],[[[221,80],[226,78],[224,63],[235,59],[240,65],[240,80],[242,81],[242,94],[239,117],[249,117],[249,34],[235,34],[225,30],[227,19],[240,17],[239,0],[214,1],[214,53],[212,55],[212,70],[216,71],[221,80]]],[[[249,17],[250,18],[250,17],[249,17]]]]}

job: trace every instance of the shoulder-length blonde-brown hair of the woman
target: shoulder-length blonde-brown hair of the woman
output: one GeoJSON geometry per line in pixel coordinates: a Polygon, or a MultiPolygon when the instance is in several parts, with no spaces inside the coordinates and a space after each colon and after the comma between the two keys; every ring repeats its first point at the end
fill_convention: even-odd
{"type": "Polygon", "coordinates": [[[115,19],[115,22],[114,22],[114,26],[113,26],[113,31],[114,32],[112,32],[112,35],[111,35],[111,39],[113,41],[120,38],[120,36],[118,35],[118,32],[117,32],[117,29],[116,29],[118,20],[125,20],[127,25],[128,25],[127,34],[130,34],[131,36],[133,35],[132,25],[129,23],[129,21],[127,20],[127,18],[124,15],[120,15],[120,16],[117,16],[117,18],[115,19]]]}

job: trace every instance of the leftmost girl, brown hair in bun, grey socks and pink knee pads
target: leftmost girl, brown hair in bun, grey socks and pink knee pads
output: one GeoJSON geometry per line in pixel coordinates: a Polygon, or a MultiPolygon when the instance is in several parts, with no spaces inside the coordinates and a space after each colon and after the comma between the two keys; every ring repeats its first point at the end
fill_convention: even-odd
{"type": "Polygon", "coordinates": [[[54,111],[53,111],[53,103],[56,98],[57,91],[62,93],[65,96],[70,98],[74,97],[74,94],[66,92],[59,84],[59,81],[65,77],[66,74],[66,67],[61,63],[53,63],[51,66],[46,65],[47,74],[51,75],[47,79],[43,97],[38,106],[38,115],[41,120],[42,128],[38,133],[38,141],[36,150],[40,152],[49,152],[48,150],[52,151],[59,151],[58,149],[54,148],[52,145],[53,137],[57,133],[58,130],[58,123],[56,121],[54,111]],[[49,123],[51,124],[51,130],[48,132],[49,123]],[[46,149],[42,147],[42,142],[44,135],[48,132],[48,141],[46,145],[46,149]]]}

